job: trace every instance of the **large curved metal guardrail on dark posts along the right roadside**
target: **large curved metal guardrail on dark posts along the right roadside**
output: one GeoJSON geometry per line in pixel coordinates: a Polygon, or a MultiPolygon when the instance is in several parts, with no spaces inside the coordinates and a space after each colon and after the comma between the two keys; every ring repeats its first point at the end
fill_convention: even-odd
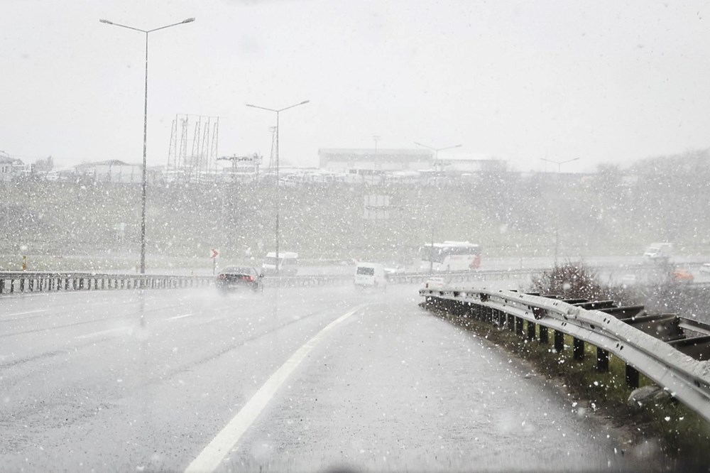
{"type": "Polygon", "coordinates": [[[641,372],[710,421],[708,324],[675,315],[647,315],[643,306],[618,308],[612,301],[565,301],[453,286],[419,293],[427,308],[507,327],[521,336],[526,332],[528,339],[535,338],[537,325],[540,342],[548,342],[548,329],[552,329],[558,352],[564,349],[564,334],[571,335],[575,359],[584,358],[585,342],[592,344],[599,371],[608,371],[608,354],[612,353],[626,363],[630,387],[638,387],[641,372]]]}

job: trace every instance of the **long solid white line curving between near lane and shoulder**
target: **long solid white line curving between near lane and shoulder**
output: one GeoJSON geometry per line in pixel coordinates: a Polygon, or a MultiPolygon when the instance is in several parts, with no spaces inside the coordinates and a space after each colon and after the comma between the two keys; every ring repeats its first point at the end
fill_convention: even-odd
{"type": "Polygon", "coordinates": [[[200,455],[197,455],[197,458],[192,460],[192,463],[185,469],[185,473],[214,472],[214,470],[219,467],[219,464],[222,463],[224,457],[229,453],[229,450],[236,445],[236,442],[239,442],[241,436],[244,435],[268,402],[271,401],[271,398],[276,391],[278,391],[278,388],[288,379],[288,376],[296,369],[296,366],[298,366],[307,354],[321,341],[323,336],[365,305],[367,304],[359,305],[345,315],[341,315],[336,320],[333,320],[314,335],[312,339],[308,340],[302,347],[297,349],[296,352],[271,375],[271,378],[266,380],[266,383],[256,391],[256,394],[251,396],[249,402],[244,404],[241,411],[239,411],[222,431],[212,439],[212,442],[209,442],[207,447],[204,447],[200,455]]]}

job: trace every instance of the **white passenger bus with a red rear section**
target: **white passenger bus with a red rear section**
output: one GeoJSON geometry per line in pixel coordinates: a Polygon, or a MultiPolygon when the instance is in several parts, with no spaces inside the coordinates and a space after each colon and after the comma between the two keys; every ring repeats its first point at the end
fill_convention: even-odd
{"type": "Polygon", "coordinates": [[[427,243],[419,249],[421,271],[472,271],[481,266],[481,246],[468,241],[427,243]]]}

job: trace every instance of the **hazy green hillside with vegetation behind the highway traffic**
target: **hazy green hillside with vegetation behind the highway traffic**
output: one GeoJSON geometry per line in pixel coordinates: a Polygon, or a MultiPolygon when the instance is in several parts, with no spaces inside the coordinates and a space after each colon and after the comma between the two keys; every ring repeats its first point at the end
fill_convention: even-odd
{"type": "MultiPolygon", "coordinates": [[[[650,241],[679,252],[710,247],[709,153],[654,158],[592,175],[479,174],[436,185],[298,185],[280,188],[280,249],[306,258],[411,261],[417,247],[469,240],[488,256],[640,254],[650,241]],[[367,196],[389,199],[366,219],[367,196]]],[[[137,185],[23,180],[0,184],[0,253],[134,255],[137,185]],[[120,232],[121,224],[124,231],[120,232]]],[[[148,254],[242,258],[273,251],[275,185],[150,187],[148,254]]]]}

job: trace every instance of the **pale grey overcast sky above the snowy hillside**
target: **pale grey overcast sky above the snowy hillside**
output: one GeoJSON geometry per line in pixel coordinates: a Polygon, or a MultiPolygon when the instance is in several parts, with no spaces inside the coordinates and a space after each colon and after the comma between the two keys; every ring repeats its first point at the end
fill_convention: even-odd
{"type": "Polygon", "coordinates": [[[413,141],[542,170],[710,147],[704,1],[0,1],[0,150],[58,166],[168,159],[176,114],[219,116],[219,154],[413,141]]]}

